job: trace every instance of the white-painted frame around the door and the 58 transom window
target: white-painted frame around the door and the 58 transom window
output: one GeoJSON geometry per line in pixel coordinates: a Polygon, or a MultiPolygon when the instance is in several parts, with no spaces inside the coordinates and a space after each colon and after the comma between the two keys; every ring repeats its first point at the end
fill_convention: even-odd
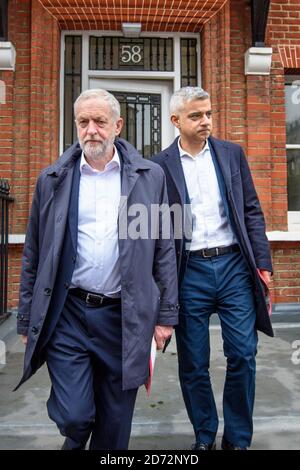
{"type": "MultiPolygon", "coordinates": [[[[178,90],[181,86],[181,70],[180,70],[180,39],[193,38],[197,40],[197,75],[198,84],[201,86],[201,47],[200,33],[160,33],[147,32],[141,33],[140,37],[158,37],[173,38],[173,64],[172,72],[147,72],[147,71],[127,71],[127,70],[89,70],[89,38],[90,36],[119,36],[124,37],[120,31],[62,31],[61,33],[61,60],[60,60],[60,132],[59,132],[59,149],[63,152],[64,141],[64,76],[65,76],[65,36],[82,36],[82,73],[81,73],[81,90],[87,90],[90,78],[133,78],[141,80],[169,80],[173,83],[173,91],[178,90]]],[[[174,137],[177,135],[174,131],[174,137]]]]}

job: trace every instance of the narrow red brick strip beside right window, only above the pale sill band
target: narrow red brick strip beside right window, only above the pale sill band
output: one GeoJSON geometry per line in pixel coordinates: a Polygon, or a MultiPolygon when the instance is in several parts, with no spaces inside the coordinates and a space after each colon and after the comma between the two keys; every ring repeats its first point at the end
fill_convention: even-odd
{"type": "Polygon", "coordinates": [[[286,133],[285,68],[300,68],[300,2],[273,0],[270,6],[267,43],[273,47],[271,72],[271,149],[273,228],[282,230],[286,223],[286,133]]]}

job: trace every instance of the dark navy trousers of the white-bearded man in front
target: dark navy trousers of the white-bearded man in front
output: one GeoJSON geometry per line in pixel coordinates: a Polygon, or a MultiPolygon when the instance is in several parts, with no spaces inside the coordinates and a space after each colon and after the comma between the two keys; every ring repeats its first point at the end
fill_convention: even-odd
{"type": "Polygon", "coordinates": [[[47,346],[49,417],[73,449],[127,449],[137,389],[122,390],[121,303],[68,295],[47,346]]]}

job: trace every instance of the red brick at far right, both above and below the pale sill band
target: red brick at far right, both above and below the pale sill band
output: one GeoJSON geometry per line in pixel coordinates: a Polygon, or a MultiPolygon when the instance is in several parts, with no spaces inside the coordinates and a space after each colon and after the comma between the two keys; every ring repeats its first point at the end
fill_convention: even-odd
{"type": "MultiPolygon", "coordinates": [[[[284,71],[300,70],[300,2],[272,0],[267,44],[273,47],[271,70],[272,227],[286,224],[286,133],[284,71]]],[[[300,242],[272,243],[275,302],[300,302],[300,242]]]]}

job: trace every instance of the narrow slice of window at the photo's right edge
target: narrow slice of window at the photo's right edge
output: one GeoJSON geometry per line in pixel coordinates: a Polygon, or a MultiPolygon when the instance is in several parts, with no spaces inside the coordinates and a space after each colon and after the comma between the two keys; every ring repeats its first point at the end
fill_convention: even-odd
{"type": "Polygon", "coordinates": [[[288,210],[300,212],[300,74],[285,76],[288,210]]]}

